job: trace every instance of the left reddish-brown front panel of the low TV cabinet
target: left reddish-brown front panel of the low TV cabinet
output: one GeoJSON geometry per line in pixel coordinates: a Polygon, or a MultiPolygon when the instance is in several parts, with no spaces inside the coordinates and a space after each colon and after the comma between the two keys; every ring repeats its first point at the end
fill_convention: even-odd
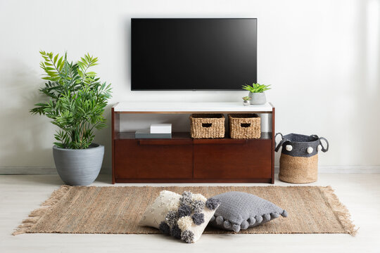
{"type": "Polygon", "coordinates": [[[191,179],[191,140],[115,140],[116,179],[191,179]]]}

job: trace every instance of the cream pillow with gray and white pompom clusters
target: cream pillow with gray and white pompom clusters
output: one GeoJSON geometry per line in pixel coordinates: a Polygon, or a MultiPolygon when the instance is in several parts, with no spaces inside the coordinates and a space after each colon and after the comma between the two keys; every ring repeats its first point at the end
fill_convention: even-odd
{"type": "Polygon", "coordinates": [[[144,213],[140,223],[160,229],[177,239],[196,242],[219,207],[218,200],[201,194],[182,195],[163,190],[144,213]]]}

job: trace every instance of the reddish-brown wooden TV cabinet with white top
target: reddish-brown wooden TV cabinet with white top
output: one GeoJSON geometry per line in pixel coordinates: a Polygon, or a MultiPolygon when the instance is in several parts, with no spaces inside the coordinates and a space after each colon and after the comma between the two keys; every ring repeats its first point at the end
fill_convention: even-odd
{"type": "MultiPolygon", "coordinates": [[[[227,121],[228,119],[226,119],[227,121]]],[[[190,124],[190,121],[189,121],[190,124]]],[[[227,127],[228,129],[228,127],[227,127]]],[[[242,103],[117,103],[112,108],[112,183],[274,183],[274,107],[242,103]],[[259,139],[136,139],[120,132],[120,115],[191,113],[267,114],[259,139]]]]}

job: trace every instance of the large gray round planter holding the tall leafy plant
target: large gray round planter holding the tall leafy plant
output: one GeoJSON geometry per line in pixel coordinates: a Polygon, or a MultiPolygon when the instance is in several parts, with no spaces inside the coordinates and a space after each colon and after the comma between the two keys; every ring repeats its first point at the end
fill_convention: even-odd
{"type": "Polygon", "coordinates": [[[87,186],[94,182],[99,175],[103,155],[104,146],[95,143],[82,150],[53,146],[58,174],[70,186],[87,186]]]}

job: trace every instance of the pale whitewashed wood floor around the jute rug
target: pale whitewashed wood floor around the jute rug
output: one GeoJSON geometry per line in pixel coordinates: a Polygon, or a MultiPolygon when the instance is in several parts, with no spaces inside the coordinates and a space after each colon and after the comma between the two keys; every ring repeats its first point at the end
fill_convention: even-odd
{"type": "MultiPolygon", "coordinates": [[[[94,186],[111,186],[109,178],[101,175],[94,186]]],[[[360,227],[356,237],[346,234],[203,235],[196,244],[187,245],[163,235],[11,235],[20,221],[39,207],[61,183],[56,175],[0,176],[1,253],[380,252],[380,174],[320,174],[319,181],[313,183],[318,186],[330,185],[336,190],[336,195],[350,210],[354,223],[360,227]]],[[[116,186],[127,185],[131,184],[116,186]]],[[[266,186],[246,183],[234,185],[266,186]]],[[[279,181],[275,185],[289,186],[279,181]]]]}

